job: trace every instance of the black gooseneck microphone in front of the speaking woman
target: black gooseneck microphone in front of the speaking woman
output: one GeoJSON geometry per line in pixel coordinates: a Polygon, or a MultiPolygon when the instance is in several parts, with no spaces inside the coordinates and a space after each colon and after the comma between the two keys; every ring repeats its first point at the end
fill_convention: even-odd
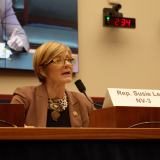
{"type": "Polygon", "coordinates": [[[90,103],[102,107],[102,105],[96,104],[96,103],[93,103],[92,101],[90,101],[90,99],[86,95],[86,87],[84,86],[84,84],[82,83],[82,81],[80,79],[75,82],[75,85],[78,88],[78,90],[86,96],[86,98],[89,100],[90,103]]]}

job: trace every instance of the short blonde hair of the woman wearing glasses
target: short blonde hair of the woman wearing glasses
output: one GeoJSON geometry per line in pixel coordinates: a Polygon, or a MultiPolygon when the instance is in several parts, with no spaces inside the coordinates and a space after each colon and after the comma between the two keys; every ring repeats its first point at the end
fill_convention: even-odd
{"type": "Polygon", "coordinates": [[[33,68],[40,82],[45,82],[46,75],[45,73],[44,75],[41,75],[39,66],[43,67],[44,72],[44,68],[47,66],[45,64],[49,63],[57,55],[66,51],[68,51],[70,56],[72,55],[71,49],[59,42],[46,42],[36,50],[33,56],[33,68]]]}

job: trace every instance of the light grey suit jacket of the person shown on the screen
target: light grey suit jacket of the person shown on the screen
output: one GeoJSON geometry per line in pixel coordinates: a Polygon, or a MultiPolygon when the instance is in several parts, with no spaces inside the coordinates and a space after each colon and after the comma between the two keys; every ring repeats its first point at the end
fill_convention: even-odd
{"type": "Polygon", "coordinates": [[[15,28],[18,29],[17,35],[21,38],[26,51],[29,49],[29,42],[25,31],[19,24],[17,17],[12,8],[12,0],[0,0],[0,42],[3,42],[2,27],[8,37],[12,35],[15,28]]]}

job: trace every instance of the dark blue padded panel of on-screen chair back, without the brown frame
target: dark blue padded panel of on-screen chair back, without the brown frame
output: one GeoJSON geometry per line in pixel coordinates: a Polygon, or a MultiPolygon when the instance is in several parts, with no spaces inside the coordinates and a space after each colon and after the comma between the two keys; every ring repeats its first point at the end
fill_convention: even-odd
{"type": "Polygon", "coordinates": [[[77,0],[28,0],[28,15],[77,23],[77,0]]]}

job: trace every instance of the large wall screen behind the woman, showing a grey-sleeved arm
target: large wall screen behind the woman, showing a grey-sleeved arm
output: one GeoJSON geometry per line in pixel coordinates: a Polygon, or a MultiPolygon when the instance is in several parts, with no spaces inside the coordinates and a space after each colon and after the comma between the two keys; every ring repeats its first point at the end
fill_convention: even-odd
{"type": "Polygon", "coordinates": [[[73,72],[79,71],[77,0],[0,0],[0,3],[0,17],[3,17],[0,19],[0,68],[33,70],[35,50],[55,41],[71,48],[72,56],[76,57],[73,72]],[[9,45],[14,36],[22,40],[21,50],[9,45]]]}

